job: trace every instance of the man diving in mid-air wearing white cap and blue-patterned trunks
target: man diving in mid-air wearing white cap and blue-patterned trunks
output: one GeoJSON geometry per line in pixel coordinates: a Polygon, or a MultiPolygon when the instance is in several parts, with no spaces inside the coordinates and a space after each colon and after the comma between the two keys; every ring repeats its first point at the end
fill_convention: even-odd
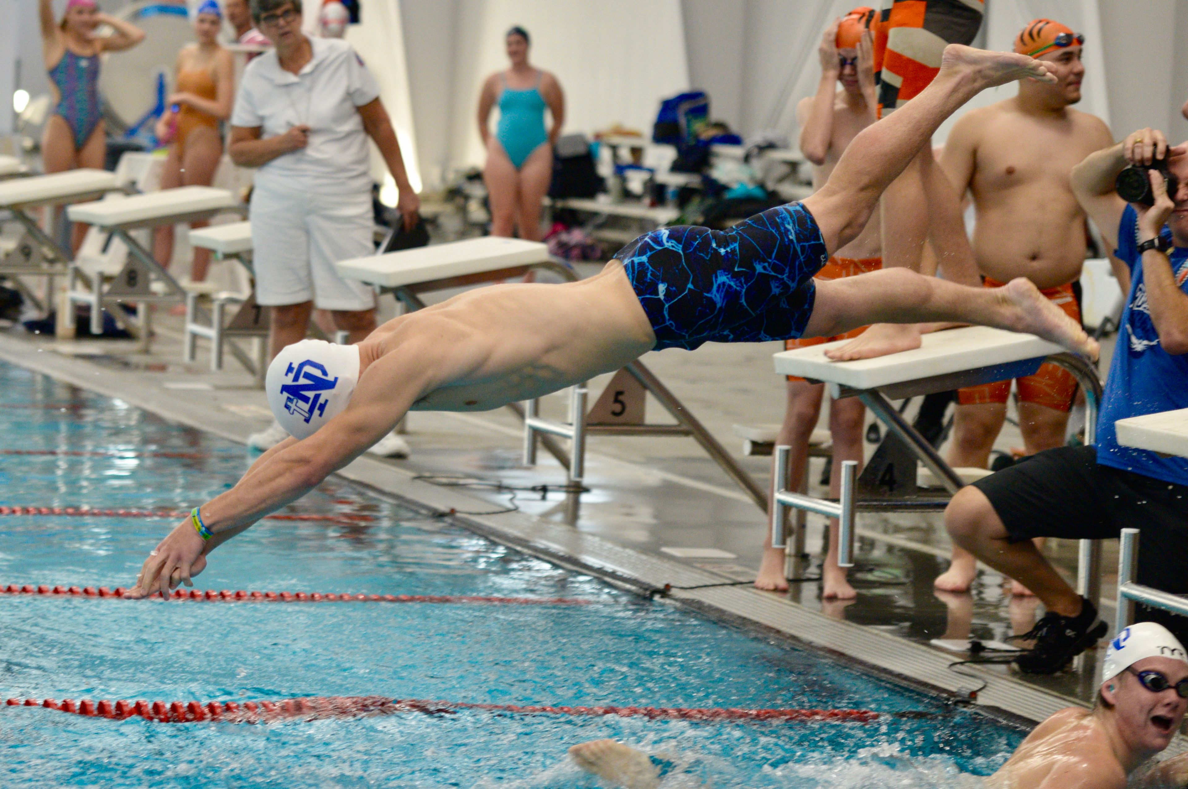
{"type": "Polygon", "coordinates": [[[1042,61],[950,46],[933,84],[862,130],[803,203],[727,232],[661,228],[589,279],[472,290],[388,321],[358,346],[289,346],[265,390],[290,437],[235,487],[195,507],[150,553],[131,597],[159,591],[168,599],[191,583],[210,550],[314,490],[413,408],[489,410],[613,372],[655,348],[833,336],[872,320],[1030,332],[1095,358],[1097,342],[1026,279],[997,290],[910,271],[813,280],[832,251],[858,238],[883,189],[944,118],[985,88],[1024,76],[1054,78],[1042,61]]]}

